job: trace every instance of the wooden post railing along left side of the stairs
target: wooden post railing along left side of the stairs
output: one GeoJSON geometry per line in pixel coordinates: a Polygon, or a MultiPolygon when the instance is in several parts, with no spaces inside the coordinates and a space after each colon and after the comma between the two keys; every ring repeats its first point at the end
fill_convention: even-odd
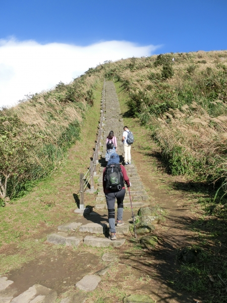
{"type": "Polygon", "coordinates": [[[98,124],[98,134],[95,142],[95,149],[90,161],[89,169],[85,174],[80,173],[80,210],[84,210],[84,191],[88,184],[90,189],[94,189],[94,176],[97,175],[96,165],[98,164],[98,159],[101,147],[101,140],[103,139],[103,118],[104,118],[104,108],[105,108],[105,80],[102,87],[102,98],[101,98],[101,110],[100,110],[100,121],[98,124]]]}

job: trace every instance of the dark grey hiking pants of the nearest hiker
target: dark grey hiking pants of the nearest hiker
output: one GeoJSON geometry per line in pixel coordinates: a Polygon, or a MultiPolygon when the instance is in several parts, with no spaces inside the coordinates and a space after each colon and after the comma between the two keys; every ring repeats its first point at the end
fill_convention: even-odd
{"type": "Polygon", "coordinates": [[[108,221],[110,232],[116,232],[115,228],[115,201],[118,203],[118,216],[117,220],[122,221],[123,217],[123,201],[125,197],[125,189],[117,192],[105,193],[106,204],[108,208],[108,221]]]}

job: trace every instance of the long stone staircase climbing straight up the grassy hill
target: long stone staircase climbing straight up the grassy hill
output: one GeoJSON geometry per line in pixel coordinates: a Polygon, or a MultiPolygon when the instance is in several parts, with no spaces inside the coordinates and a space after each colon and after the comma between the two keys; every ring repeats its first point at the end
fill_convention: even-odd
{"type": "MultiPolygon", "coordinates": [[[[106,137],[109,131],[112,130],[118,140],[118,154],[120,156],[120,162],[124,165],[124,148],[121,142],[123,133],[123,117],[121,114],[120,104],[116,93],[115,86],[112,81],[104,82],[102,92],[102,102],[104,102],[104,118],[102,123],[102,139],[103,148],[101,151],[101,157],[99,160],[100,168],[98,175],[98,190],[97,197],[95,199],[94,209],[87,208],[85,210],[77,209],[75,213],[78,216],[84,216],[87,219],[87,224],[83,224],[80,218],[77,218],[77,222],[71,222],[60,225],[58,231],[47,236],[47,242],[53,244],[65,244],[67,246],[78,246],[80,243],[97,246],[122,246],[125,243],[124,236],[130,234],[130,224],[132,223],[131,216],[128,221],[125,221],[125,225],[116,226],[116,232],[120,237],[117,240],[111,241],[108,238],[109,226],[106,220],[103,222],[103,217],[95,211],[105,210],[106,201],[102,188],[102,172],[106,167],[105,153],[106,153],[106,137]],[[95,218],[99,217],[99,220],[95,218]],[[78,222],[79,221],[79,222],[78,222]],[[69,234],[74,232],[74,234],[69,234]]],[[[132,186],[130,186],[130,193],[134,208],[141,208],[149,205],[149,198],[144,189],[143,183],[138,175],[135,164],[125,166],[127,175],[130,179],[132,186]]],[[[117,204],[115,205],[117,207],[117,204]]],[[[130,196],[126,190],[124,199],[124,208],[130,208],[130,196]]],[[[106,212],[106,211],[105,211],[106,212]]],[[[104,215],[106,217],[106,215],[104,215]]]]}

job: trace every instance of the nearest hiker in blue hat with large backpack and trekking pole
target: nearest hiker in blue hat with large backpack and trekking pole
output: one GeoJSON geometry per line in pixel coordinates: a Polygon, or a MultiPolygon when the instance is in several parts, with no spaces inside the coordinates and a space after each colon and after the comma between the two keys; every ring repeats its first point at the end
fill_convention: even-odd
{"type": "Polygon", "coordinates": [[[103,191],[108,208],[108,221],[110,229],[110,240],[117,240],[115,228],[115,201],[118,203],[117,226],[124,225],[123,219],[123,201],[125,198],[125,183],[127,187],[131,186],[126,169],[120,164],[118,154],[113,154],[103,171],[103,191]]]}

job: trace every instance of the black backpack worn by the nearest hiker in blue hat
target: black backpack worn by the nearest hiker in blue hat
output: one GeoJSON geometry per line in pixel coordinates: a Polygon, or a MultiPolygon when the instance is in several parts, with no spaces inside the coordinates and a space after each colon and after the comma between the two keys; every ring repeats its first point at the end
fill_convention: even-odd
{"type": "Polygon", "coordinates": [[[109,164],[105,170],[105,188],[120,191],[124,187],[124,179],[120,164],[109,164]]]}

